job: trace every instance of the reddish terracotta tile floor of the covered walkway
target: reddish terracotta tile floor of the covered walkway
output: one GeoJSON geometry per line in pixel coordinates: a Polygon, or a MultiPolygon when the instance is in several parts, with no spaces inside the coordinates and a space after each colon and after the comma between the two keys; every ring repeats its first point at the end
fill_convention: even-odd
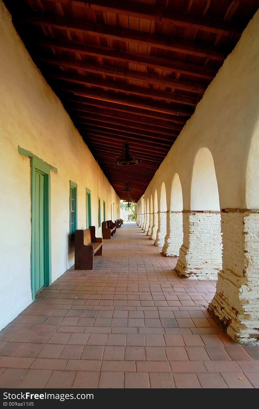
{"type": "Polygon", "coordinates": [[[0,387],[258,388],[259,346],[232,344],[135,223],[93,271],[67,270],[0,332],[0,387]]]}

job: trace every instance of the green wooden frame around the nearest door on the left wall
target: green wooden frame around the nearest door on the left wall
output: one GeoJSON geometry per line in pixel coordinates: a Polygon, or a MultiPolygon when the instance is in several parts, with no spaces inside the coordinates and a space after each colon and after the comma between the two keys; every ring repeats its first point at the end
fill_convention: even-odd
{"type": "Polygon", "coordinates": [[[35,171],[44,175],[44,286],[51,284],[51,206],[50,167],[37,157],[31,157],[31,296],[35,299],[35,171]]]}

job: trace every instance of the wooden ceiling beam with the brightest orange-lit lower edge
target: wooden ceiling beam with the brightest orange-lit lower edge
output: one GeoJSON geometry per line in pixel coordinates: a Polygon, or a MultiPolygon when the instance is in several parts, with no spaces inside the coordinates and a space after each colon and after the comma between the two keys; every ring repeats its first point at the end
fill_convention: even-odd
{"type": "MultiPolygon", "coordinates": [[[[53,86],[57,87],[57,84],[55,83],[53,86]]],[[[85,88],[85,91],[82,91],[82,88],[78,89],[78,87],[70,88],[68,86],[63,86],[61,90],[70,92],[74,95],[79,95],[80,97],[101,99],[102,101],[119,103],[122,105],[133,106],[135,108],[146,109],[149,111],[162,112],[170,115],[190,117],[194,112],[193,107],[185,107],[182,104],[166,103],[164,101],[153,101],[151,99],[147,100],[144,98],[133,98],[128,97],[127,95],[117,94],[115,92],[111,93],[95,90],[93,88],[85,88]]]]}

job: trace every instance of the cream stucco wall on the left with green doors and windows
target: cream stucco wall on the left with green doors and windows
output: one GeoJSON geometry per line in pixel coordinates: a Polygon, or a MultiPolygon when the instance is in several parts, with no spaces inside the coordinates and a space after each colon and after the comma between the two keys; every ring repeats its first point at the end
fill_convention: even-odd
{"type": "Polygon", "coordinates": [[[86,187],[91,190],[92,225],[96,236],[97,203],[120,200],[84,144],[60,100],[31,61],[0,0],[0,328],[31,303],[31,175],[30,159],[18,145],[58,168],[51,171],[52,281],[74,263],[69,244],[69,180],[77,183],[77,228],[86,228],[86,187]],[[97,178],[98,173],[98,178],[97,178]]]}

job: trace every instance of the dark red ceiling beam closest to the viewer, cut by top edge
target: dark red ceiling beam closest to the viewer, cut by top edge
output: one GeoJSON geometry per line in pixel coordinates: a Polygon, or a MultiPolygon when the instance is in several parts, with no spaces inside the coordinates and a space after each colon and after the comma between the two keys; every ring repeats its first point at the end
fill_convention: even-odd
{"type": "Polygon", "coordinates": [[[144,18],[160,23],[175,24],[180,27],[188,27],[209,33],[227,35],[230,33],[241,34],[244,27],[235,22],[229,22],[219,18],[198,16],[192,13],[183,13],[170,7],[159,7],[153,4],[139,3],[127,0],[48,0],[61,4],[71,4],[75,7],[89,8],[109,13],[122,14],[128,17],[144,18]]]}

